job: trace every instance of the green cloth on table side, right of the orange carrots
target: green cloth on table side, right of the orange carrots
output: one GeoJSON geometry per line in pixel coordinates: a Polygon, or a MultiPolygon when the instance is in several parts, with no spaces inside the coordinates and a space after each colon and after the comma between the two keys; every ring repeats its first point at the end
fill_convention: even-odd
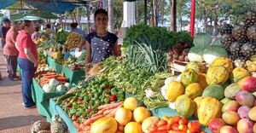
{"type": "Polygon", "coordinates": [[[70,84],[79,84],[79,81],[85,78],[85,72],[81,69],[71,70],[69,67],[62,67],[61,72],[64,73],[70,84]]]}

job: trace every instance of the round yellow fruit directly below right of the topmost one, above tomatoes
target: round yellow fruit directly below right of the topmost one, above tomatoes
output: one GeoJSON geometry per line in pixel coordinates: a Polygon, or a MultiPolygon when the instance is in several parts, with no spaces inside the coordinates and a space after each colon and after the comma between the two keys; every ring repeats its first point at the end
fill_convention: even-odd
{"type": "Polygon", "coordinates": [[[150,112],[145,107],[137,107],[133,112],[133,119],[140,124],[143,123],[144,119],[147,119],[150,116],[150,112]]]}

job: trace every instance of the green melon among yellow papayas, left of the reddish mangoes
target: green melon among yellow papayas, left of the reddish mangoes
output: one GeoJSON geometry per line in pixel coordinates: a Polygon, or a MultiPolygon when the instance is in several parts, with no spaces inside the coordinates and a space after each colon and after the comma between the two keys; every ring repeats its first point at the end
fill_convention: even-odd
{"type": "Polygon", "coordinates": [[[218,100],[222,100],[224,98],[224,88],[218,84],[209,85],[202,93],[202,96],[211,96],[218,100]]]}

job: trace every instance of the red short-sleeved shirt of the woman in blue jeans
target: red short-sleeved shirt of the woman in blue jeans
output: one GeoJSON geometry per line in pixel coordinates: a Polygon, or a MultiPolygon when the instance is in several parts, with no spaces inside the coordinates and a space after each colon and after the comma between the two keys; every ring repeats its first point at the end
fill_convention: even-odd
{"type": "Polygon", "coordinates": [[[18,46],[18,50],[20,52],[19,53],[20,58],[28,59],[24,52],[24,48],[29,48],[31,49],[32,55],[34,55],[35,58],[38,59],[37,46],[32,41],[31,35],[29,35],[25,31],[21,31],[16,38],[16,43],[18,46]]]}

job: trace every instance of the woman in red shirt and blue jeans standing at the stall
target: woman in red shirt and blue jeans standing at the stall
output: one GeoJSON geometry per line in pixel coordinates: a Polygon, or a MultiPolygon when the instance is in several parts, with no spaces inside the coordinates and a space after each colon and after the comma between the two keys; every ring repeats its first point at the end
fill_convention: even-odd
{"type": "Polygon", "coordinates": [[[32,101],[32,78],[38,67],[37,46],[33,43],[31,35],[34,32],[32,21],[24,20],[20,26],[20,33],[17,36],[16,43],[19,50],[18,63],[21,69],[22,77],[22,96],[25,108],[35,107],[32,101]]]}

